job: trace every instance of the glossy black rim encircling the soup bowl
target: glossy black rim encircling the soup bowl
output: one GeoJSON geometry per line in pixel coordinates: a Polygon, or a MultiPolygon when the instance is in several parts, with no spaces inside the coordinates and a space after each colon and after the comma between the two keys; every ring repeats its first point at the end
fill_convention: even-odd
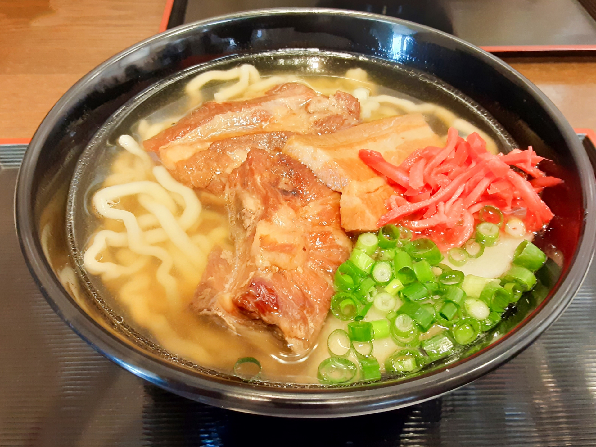
{"type": "Polygon", "coordinates": [[[492,54],[439,30],[384,15],[328,8],[272,8],[222,15],[167,30],[119,52],[82,77],[51,108],[27,148],[18,173],[15,191],[15,221],[27,267],[49,305],[85,342],[126,370],[178,395],[228,409],[291,417],[352,416],[401,408],[436,398],[488,373],[529,346],[567,308],[587,274],[596,243],[596,219],[586,219],[586,215],[591,215],[596,210],[595,192],[596,182],[592,165],[563,114],[535,85],[492,54]],[[491,344],[490,349],[468,356],[453,367],[442,368],[412,380],[364,388],[288,390],[283,387],[275,389],[250,383],[232,383],[228,380],[218,380],[217,377],[187,374],[188,370],[156,359],[123,343],[76,305],[58,281],[57,275],[45,259],[39,243],[38,228],[35,228],[32,179],[46,138],[59,122],[67,106],[76,100],[78,92],[91,85],[94,78],[111,64],[161,39],[173,38],[193,29],[200,30],[202,27],[217,26],[263,15],[291,14],[349,15],[363,20],[398,24],[414,32],[432,33],[448,41],[455,41],[461,45],[462,50],[475,54],[501,76],[523,85],[558,124],[561,135],[569,145],[577,165],[583,193],[583,231],[579,237],[578,248],[566,277],[560,281],[550,299],[542,303],[532,312],[532,315],[527,316],[517,328],[498,342],[491,344]],[[537,318],[538,314],[542,318],[537,318]]]}

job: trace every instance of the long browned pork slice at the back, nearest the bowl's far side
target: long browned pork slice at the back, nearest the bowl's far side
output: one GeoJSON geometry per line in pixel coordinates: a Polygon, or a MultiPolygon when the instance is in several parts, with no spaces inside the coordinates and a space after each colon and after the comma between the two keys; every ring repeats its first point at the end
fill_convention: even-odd
{"type": "MultiPolygon", "coordinates": [[[[360,103],[352,95],[338,91],[326,97],[288,82],[252,100],[205,103],[143,145],[174,171],[179,162],[221,139],[256,132],[324,134],[353,126],[359,119],[360,103]]],[[[219,166],[222,172],[226,167],[219,166]]]]}

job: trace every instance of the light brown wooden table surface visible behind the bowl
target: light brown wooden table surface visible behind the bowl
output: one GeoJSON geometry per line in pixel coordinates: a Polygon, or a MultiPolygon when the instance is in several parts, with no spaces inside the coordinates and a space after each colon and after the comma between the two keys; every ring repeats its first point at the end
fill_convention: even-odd
{"type": "MultiPolygon", "coordinates": [[[[30,138],[80,77],[159,30],[166,0],[0,0],[0,138],[30,138]]],[[[507,60],[596,129],[596,58],[507,60]]]]}

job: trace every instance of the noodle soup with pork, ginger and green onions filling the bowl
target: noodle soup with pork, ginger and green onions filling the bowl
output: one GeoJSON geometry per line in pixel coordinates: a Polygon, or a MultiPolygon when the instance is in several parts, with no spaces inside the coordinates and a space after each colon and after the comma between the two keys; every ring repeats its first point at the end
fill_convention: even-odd
{"type": "MultiPolygon", "coordinates": [[[[377,220],[399,206],[420,200],[410,202],[412,192],[393,181],[383,170],[387,166],[377,169],[364,156],[359,159],[358,152],[353,160],[342,158],[347,168],[334,171],[337,176],[328,175],[317,161],[345,154],[344,147],[363,141],[370,150],[383,144],[393,150],[398,145],[402,153],[384,156],[393,157],[391,166],[403,170],[402,164],[425,147],[445,151],[443,147],[453,144],[455,153],[453,135],[468,137],[471,147],[475,140],[469,136],[476,135],[489,155],[502,150],[507,138],[486,123],[479,126],[443,105],[389,88],[387,78],[367,71],[365,64],[363,68],[343,61],[334,66],[334,61],[299,58],[310,68],[299,70],[296,60],[278,57],[278,70],[237,63],[226,70],[185,76],[169,95],[160,93],[145,101],[136,119],[126,121],[128,128],[119,126],[122,134],[113,136],[113,147],[105,148],[110,152],[107,168],[98,172],[86,194],[92,223],[84,235],[79,234],[82,268],[129,324],[169,352],[223,373],[285,383],[350,383],[384,374],[407,375],[457,355],[476,340],[480,326],[462,325],[465,321],[486,326],[490,314],[493,325],[498,322],[509,302],[498,312],[498,307],[491,307],[494,293],[488,302],[481,297],[485,287],[493,284],[500,291],[514,284],[515,293],[523,291],[517,287],[519,281],[502,279],[511,276],[512,261],[516,265],[520,259],[516,252],[520,244],[540,229],[526,229],[523,219],[516,217],[521,206],[511,208],[510,202],[501,212],[486,202],[474,213],[488,215],[494,209],[502,222],[473,218],[476,229],[461,244],[454,245],[446,235],[451,228],[460,232],[464,231],[460,227],[467,228],[467,209],[482,204],[482,194],[488,194],[498,178],[491,178],[466,209],[463,198],[460,203],[458,197],[449,197],[452,201],[446,203],[462,210],[449,228],[445,221],[439,226],[409,223],[448,213],[437,204],[421,208],[409,220],[398,216],[388,221],[389,226],[377,226],[377,220]],[[316,69],[317,64],[324,69],[316,69]],[[380,123],[385,127],[379,129],[380,123]],[[448,134],[450,128],[454,130],[448,134]],[[354,132],[360,129],[365,136],[358,140],[354,132]],[[358,184],[334,184],[330,179],[349,177],[350,167],[363,160],[372,174],[353,177],[358,184]],[[258,197],[246,191],[266,190],[272,182],[281,197],[274,198],[281,204],[255,220],[263,206],[254,205],[258,197]],[[389,191],[386,197],[376,197],[383,188],[389,191]],[[522,229],[515,226],[518,221],[522,229]],[[489,234],[492,240],[482,240],[485,233],[476,222],[485,223],[482,228],[495,225],[496,237],[489,234]],[[509,226],[502,226],[505,223],[509,226]],[[409,237],[394,237],[381,227],[405,229],[409,237]],[[367,238],[377,243],[366,245],[367,238]],[[381,247],[383,242],[378,241],[385,239],[389,243],[381,247]],[[420,250],[414,253],[416,241],[436,241],[440,259],[427,260],[420,250]],[[409,257],[409,264],[398,263],[398,252],[409,257]],[[364,256],[370,265],[362,261],[364,256]],[[418,269],[426,266],[424,262],[430,274],[426,273],[433,276],[423,281],[418,269]],[[355,266],[359,273],[348,274],[345,266],[355,266]],[[389,267],[383,272],[381,266],[389,267]],[[403,276],[408,269],[414,275],[409,279],[403,276]],[[456,271],[461,274],[449,276],[456,271]],[[284,291],[280,275],[300,293],[284,291]],[[316,293],[300,275],[311,278],[306,283],[316,283],[316,293]],[[460,276],[459,281],[445,280],[460,276]],[[348,277],[352,286],[342,283],[348,277]],[[372,281],[367,290],[365,280],[372,281]],[[414,284],[424,286],[423,296],[414,297],[414,284]],[[449,299],[449,286],[460,287],[465,296],[449,299]],[[294,305],[298,310],[290,315],[285,309],[294,305]],[[432,309],[432,321],[419,321],[421,313],[416,317],[415,310],[400,311],[408,306],[427,313],[432,309]],[[467,328],[476,333],[473,338],[466,339],[467,328]],[[451,346],[440,355],[432,352],[432,343],[445,340],[451,346]]],[[[435,163],[434,157],[427,156],[425,163],[435,163]]],[[[465,160],[452,169],[463,172],[465,160]]],[[[479,166],[471,163],[468,169],[479,166]]],[[[408,181],[415,175],[412,166],[408,181]]],[[[447,181],[436,188],[423,184],[416,193],[429,188],[431,198],[448,187],[447,181]]],[[[464,191],[473,192],[462,187],[459,194],[464,191]]],[[[514,292],[507,291],[511,303],[514,292]]]]}

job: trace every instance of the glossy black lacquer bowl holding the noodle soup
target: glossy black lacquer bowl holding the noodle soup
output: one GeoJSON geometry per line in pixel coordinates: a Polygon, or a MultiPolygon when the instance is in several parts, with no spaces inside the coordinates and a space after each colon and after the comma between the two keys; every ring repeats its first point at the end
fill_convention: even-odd
{"type": "Polygon", "coordinates": [[[164,389],[212,405],[268,415],[329,417],[434,398],[491,371],[532,343],[569,305],[591,262],[594,192],[594,172],[569,123],[535,86],[492,55],[445,33],[379,15],[263,10],[178,27],[126,49],[83,77],[48,113],[27,149],[15,215],[21,248],[46,299],[107,358],[164,389]],[[89,293],[89,285],[76,274],[66,235],[69,184],[85,148],[123,105],[181,70],[284,49],[361,55],[426,73],[484,108],[520,147],[532,145],[552,160],[542,162],[541,168],[565,184],[544,193],[555,218],[536,243],[556,253],[561,266],[550,260],[539,272],[540,290],[511,309],[490,334],[496,341],[485,340],[467,357],[431,365],[405,380],[335,388],[247,383],[148,342],[89,293]]]}

